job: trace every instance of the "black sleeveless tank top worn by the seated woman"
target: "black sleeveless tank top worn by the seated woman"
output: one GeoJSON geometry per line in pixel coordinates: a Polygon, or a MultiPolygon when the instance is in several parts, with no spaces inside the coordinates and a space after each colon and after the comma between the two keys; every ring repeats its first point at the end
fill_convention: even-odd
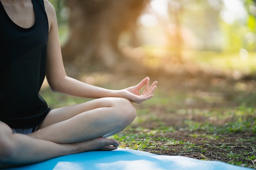
{"type": "Polygon", "coordinates": [[[48,20],[43,0],[32,0],[36,20],[15,24],[0,2],[0,120],[11,128],[34,128],[50,108],[38,94],[45,78],[48,20]]]}

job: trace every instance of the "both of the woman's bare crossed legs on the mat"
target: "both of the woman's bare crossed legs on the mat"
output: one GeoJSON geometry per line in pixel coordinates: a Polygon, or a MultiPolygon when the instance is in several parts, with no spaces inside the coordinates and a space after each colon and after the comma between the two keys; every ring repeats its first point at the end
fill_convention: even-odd
{"type": "Polygon", "coordinates": [[[107,139],[136,117],[132,103],[124,98],[101,98],[51,110],[38,130],[13,134],[0,121],[0,168],[36,163],[92,150],[114,150],[118,141],[107,139]]]}

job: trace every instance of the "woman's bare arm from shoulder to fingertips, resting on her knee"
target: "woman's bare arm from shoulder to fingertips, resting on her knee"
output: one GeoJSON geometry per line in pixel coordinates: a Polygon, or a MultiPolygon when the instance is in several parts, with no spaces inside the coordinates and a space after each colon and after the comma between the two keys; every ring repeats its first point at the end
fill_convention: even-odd
{"type": "Polygon", "coordinates": [[[153,97],[157,82],[154,82],[149,88],[148,77],[143,79],[137,86],[124,90],[108,90],[68,77],[63,66],[56,13],[52,4],[46,0],[45,10],[47,12],[50,27],[47,46],[46,77],[49,86],[53,91],[87,98],[124,97],[136,103],[142,103],[153,97]],[[140,95],[139,90],[143,86],[146,86],[145,91],[140,95]]]}

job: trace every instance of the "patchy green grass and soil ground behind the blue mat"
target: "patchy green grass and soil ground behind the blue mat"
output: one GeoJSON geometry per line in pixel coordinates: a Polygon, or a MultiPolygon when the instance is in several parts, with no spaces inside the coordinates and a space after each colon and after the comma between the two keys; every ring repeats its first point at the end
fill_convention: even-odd
{"type": "MultiPolygon", "coordinates": [[[[207,60],[211,64],[217,59],[207,60]]],[[[227,59],[220,57],[220,60],[227,59]]],[[[143,78],[104,73],[88,76],[94,77],[94,85],[112,89],[135,85],[143,78]]],[[[217,160],[256,169],[254,79],[151,77],[152,81],[155,79],[159,82],[155,97],[135,104],[135,121],[111,137],[120,142],[121,148],[217,160]]],[[[52,93],[47,87],[40,94],[52,108],[89,100],[52,93]]]]}

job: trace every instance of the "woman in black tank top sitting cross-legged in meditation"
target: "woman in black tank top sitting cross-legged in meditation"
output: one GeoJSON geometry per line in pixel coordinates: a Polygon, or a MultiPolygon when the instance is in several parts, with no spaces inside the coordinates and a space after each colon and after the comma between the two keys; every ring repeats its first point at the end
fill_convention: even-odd
{"type": "Polygon", "coordinates": [[[132,102],[153,97],[157,82],[108,90],[67,77],[56,13],[47,0],[0,0],[0,168],[92,150],[115,150],[107,139],[136,117],[132,102]],[[52,91],[90,102],[48,108],[38,94],[44,77],[52,91]],[[140,95],[139,90],[145,86],[140,95]]]}

